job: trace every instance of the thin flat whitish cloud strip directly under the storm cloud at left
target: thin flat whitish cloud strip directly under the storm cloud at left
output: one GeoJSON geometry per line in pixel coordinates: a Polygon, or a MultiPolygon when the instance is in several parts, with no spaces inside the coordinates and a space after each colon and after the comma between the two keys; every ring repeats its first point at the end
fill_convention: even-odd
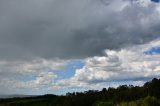
{"type": "Polygon", "coordinates": [[[46,70],[58,70],[65,67],[63,60],[35,59],[33,61],[0,61],[0,73],[16,73],[21,75],[36,74],[46,70]]]}

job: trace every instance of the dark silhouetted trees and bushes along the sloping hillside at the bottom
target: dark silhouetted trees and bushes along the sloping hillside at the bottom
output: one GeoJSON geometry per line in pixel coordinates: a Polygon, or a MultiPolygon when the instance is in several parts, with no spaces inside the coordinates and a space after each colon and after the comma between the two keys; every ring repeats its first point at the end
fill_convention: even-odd
{"type": "Polygon", "coordinates": [[[160,106],[160,79],[142,87],[121,85],[101,91],[67,93],[66,96],[44,95],[1,99],[0,106],[160,106]]]}

